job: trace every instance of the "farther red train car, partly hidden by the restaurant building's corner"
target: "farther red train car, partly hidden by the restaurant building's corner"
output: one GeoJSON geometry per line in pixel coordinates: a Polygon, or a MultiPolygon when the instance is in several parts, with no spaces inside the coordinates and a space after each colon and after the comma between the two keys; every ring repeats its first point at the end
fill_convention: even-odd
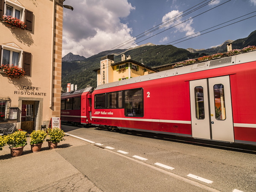
{"type": "Polygon", "coordinates": [[[61,122],[90,125],[92,87],[61,93],[61,122]]]}

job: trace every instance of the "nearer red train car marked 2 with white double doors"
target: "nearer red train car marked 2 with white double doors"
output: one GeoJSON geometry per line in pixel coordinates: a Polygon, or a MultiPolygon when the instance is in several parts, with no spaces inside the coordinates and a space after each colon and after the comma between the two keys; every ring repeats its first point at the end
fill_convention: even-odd
{"type": "Polygon", "coordinates": [[[98,86],[92,124],[256,145],[256,51],[98,86]]]}

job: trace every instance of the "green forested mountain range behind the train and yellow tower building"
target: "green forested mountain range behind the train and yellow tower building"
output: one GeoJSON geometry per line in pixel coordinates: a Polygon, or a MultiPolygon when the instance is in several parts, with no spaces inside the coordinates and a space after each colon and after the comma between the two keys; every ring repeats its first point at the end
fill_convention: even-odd
{"type": "Polygon", "coordinates": [[[232,42],[233,49],[242,49],[249,45],[256,46],[256,31],[250,33],[247,38],[236,41],[227,40],[218,47],[212,47],[210,49],[180,49],[172,45],[154,45],[148,43],[130,49],[103,51],[79,61],[78,59],[75,59],[76,61],[72,59],[71,61],[62,61],[61,85],[64,90],[67,87],[67,83],[77,84],[78,89],[85,88],[87,85],[96,87],[97,77],[93,70],[99,67],[100,58],[106,55],[113,54],[114,62],[116,63],[121,61],[121,55],[125,53],[126,56],[131,55],[131,59],[134,61],[140,63],[143,61],[143,64],[148,67],[157,67],[190,58],[212,55],[217,52],[227,52],[227,43],[230,42],[232,42]]]}

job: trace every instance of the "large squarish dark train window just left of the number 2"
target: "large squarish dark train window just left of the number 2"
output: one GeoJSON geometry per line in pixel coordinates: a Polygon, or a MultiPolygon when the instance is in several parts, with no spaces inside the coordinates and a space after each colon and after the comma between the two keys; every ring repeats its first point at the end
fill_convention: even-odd
{"type": "Polygon", "coordinates": [[[143,89],[125,90],[125,116],[143,116],[143,89]]]}

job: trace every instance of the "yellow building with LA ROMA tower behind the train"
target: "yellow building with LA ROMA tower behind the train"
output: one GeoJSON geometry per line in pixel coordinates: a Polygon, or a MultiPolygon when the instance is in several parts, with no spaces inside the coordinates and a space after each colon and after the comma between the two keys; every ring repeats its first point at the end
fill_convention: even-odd
{"type": "Polygon", "coordinates": [[[114,55],[102,57],[100,67],[93,71],[97,73],[97,86],[157,72],[142,63],[131,60],[130,55],[125,57],[124,54],[121,61],[117,63],[114,62],[114,55]]]}

